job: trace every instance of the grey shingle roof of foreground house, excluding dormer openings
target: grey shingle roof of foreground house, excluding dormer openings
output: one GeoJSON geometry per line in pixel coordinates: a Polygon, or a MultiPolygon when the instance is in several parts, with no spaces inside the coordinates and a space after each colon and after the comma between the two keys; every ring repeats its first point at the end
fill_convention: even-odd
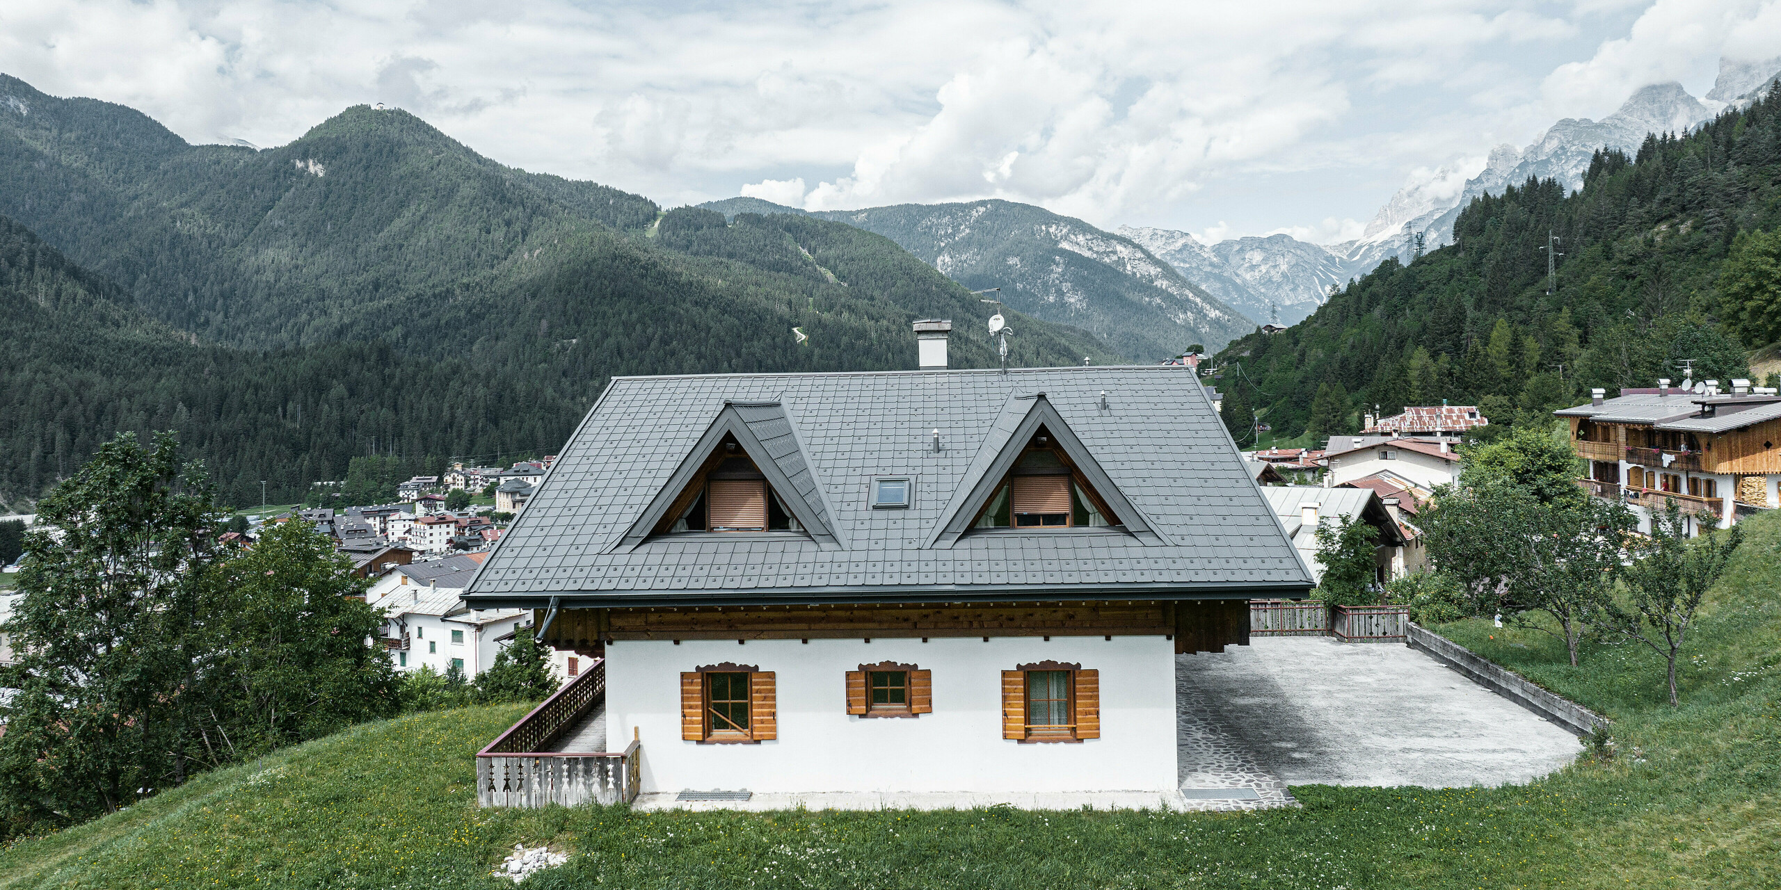
{"type": "Polygon", "coordinates": [[[1085,367],[618,377],[490,554],[467,602],[488,609],[545,605],[550,596],[565,605],[1279,596],[1309,586],[1190,368],[1085,367]],[[972,473],[1008,445],[1001,427],[1019,422],[1010,420],[1012,400],[1040,392],[1158,534],[985,530],[930,546],[935,523],[956,509],[960,486],[974,486],[972,473]],[[796,459],[775,452],[757,461],[778,463],[805,502],[823,506],[839,548],[784,532],[618,546],[725,402],[784,406],[746,420],[762,424],[762,443],[796,443],[796,459]],[[914,479],[910,507],[871,509],[874,475],[914,479]],[[801,491],[805,479],[810,491],[801,491]]]}

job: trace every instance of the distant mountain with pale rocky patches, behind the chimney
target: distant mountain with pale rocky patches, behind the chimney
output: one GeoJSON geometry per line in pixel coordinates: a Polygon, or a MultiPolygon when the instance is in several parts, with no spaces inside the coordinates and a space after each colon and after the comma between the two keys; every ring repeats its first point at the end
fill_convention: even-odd
{"type": "Polygon", "coordinates": [[[1256,328],[1124,235],[1012,201],[896,205],[807,214],[757,198],[700,206],[723,214],[805,214],[876,231],[969,288],[999,287],[1008,306],[1101,335],[1143,360],[1220,347],[1256,328]]]}

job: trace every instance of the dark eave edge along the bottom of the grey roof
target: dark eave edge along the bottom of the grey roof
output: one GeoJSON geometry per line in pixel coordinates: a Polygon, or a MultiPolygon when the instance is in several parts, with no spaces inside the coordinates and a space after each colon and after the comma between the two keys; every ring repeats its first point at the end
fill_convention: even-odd
{"type": "Polygon", "coordinates": [[[695,607],[695,605],[876,605],[967,602],[1083,602],[1083,600],[1236,600],[1302,598],[1314,584],[1273,582],[1138,582],[1138,584],[930,584],[753,587],[718,591],[538,591],[465,595],[472,609],[543,609],[552,598],[565,609],[695,607]]]}

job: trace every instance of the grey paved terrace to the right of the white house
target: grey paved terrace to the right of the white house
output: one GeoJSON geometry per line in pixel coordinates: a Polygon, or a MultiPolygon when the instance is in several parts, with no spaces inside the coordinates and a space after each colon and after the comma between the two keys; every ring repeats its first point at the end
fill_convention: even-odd
{"type": "Polygon", "coordinates": [[[1528,781],[1582,749],[1569,732],[1402,644],[1257,637],[1218,655],[1177,655],[1175,682],[1188,789],[1222,785],[1215,776],[1232,765],[1231,748],[1288,785],[1430,789],[1528,781]],[[1227,739],[1208,744],[1208,733],[1227,739]]]}

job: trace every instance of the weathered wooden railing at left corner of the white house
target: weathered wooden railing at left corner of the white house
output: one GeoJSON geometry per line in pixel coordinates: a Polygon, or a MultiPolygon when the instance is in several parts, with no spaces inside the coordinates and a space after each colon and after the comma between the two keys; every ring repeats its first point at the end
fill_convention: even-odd
{"type": "Polygon", "coordinates": [[[630,803],[641,781],[636,739],[618,753],[547,751],[606,703],[606,659],[595,659],[476,755],[477,806],[630,803]]]}

